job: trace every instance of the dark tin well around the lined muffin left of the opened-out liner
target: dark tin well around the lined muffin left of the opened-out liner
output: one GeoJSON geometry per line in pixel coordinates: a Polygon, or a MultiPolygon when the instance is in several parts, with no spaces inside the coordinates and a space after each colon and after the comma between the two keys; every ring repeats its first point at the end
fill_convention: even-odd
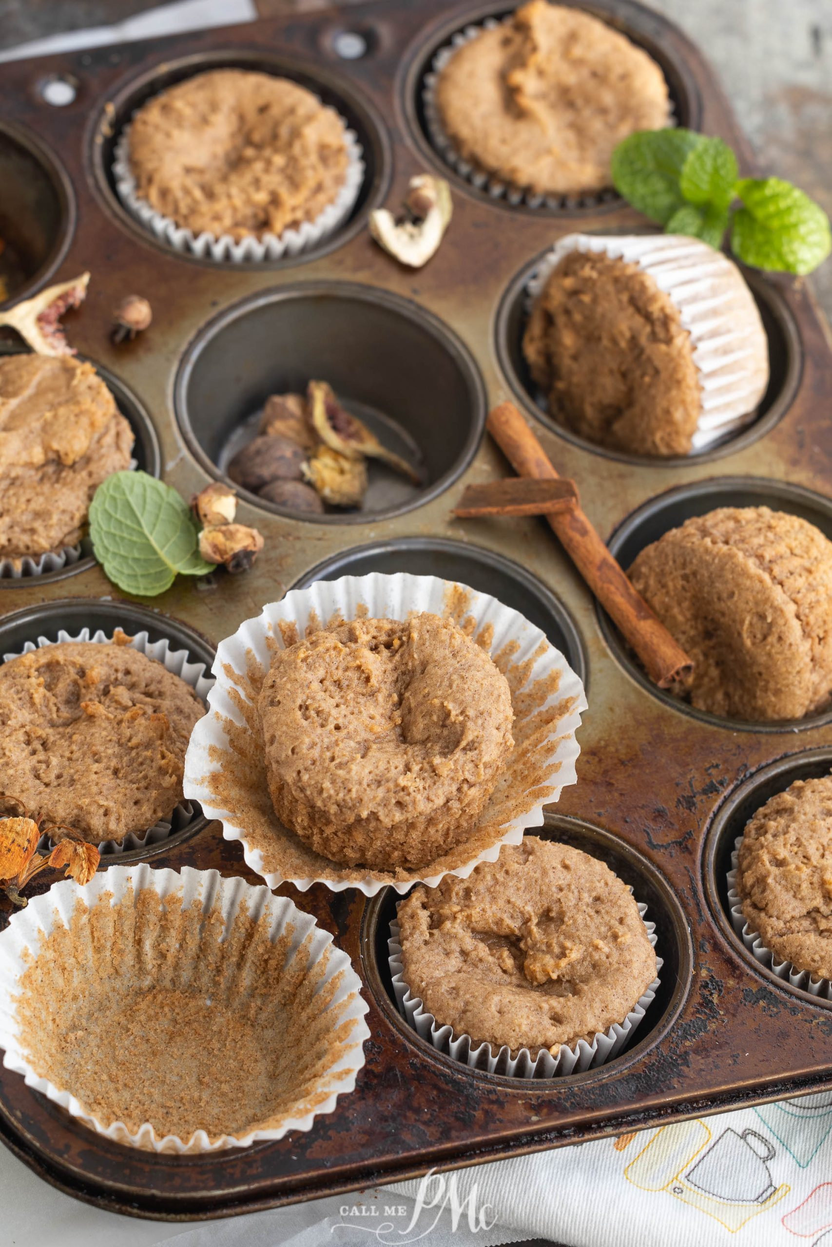
{"type": "MultiPolygon", "coordinates": [[[[94,636],[99,630],[107,636],[112,636],[116,628],[128,635],[147,632],[151,641],[167,640],[176,650],[187,650],[193,662],[205,663],[206,673],[211,672],[215,650],[208,641],[195,628],[181,620],[175,620],[170,615],[160,615],[146,606],[137,606],[133,602],[107,601],[95,597],[66,597],[40,606],[27,606],[21,611],[12,611],[0,619],[0,656],[4,653],[22,653],[27,641],[37,645],[40,636],[47,641],[57,641],[59,632],[67,632],[76,636],[82,628],[89,627],[94,636]]],[[[0,665],[2,658],[0,657],[0,665]]],[[[14,796],[10,793],[9,796],[14,796]]],[[[193,817],[178,831],[172,832],[166,839],[155,844],[146,844],[137,849],[125,849],[122,853],[104,853],[99,869],[104,870],[109,865],[130,865],[131,862],[145,862],[157,858],[170,852],[177,844],[196,835],[208,826],[208,819],[203,816],[197,802],[191,803],[193,817]]]]}

